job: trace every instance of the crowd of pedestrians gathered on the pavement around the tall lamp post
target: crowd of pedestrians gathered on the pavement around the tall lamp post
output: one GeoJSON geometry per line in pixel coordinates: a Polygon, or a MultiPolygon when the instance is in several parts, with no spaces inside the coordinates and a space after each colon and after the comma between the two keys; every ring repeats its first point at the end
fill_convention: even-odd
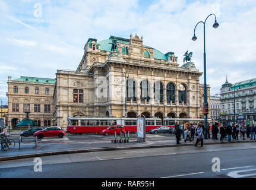
{"type": "MultiPolygon", "coordinates": [[[[184,127],[184,126],[183,126],[184,127]]],[[[250,138],[251,135],[251,140],[255,140],[255,132],[256,132],[256,127],[252,124],[245,126],[244,123],[242,124],[232,124],[230,125],[227,123],[226,125],[220,125],[219,123],[215,123],[211,127],[211,133],[212,137],[210,137],[210,125],[207,124],[207,136],[208,138],[212,138],[213,140],[218,140],[218,133],[220,134],[220,141],[227,140],[231,141],[232,140],[238,140],[239,134],[240,138],[242,140],[245,140],[245,134],[247,138],[250,138]]],[[[204,130],[205,126],[203,122],[200,122],[198,125],[189,125],[185,131],[184,131],[184,141],[187,142],[187,140],[194,141],[194,137],[197,138],[197,141],[195,142],[195,146],[201,142],[201,147],[203,147],[203,139],[204,139],[204,130]]],[[[179,141],[181,141],[181,135],[182,135],[182,130],[181,127],[175,123],[175,135],[176,135],[176,144],[181,144],[179,141]]]]}

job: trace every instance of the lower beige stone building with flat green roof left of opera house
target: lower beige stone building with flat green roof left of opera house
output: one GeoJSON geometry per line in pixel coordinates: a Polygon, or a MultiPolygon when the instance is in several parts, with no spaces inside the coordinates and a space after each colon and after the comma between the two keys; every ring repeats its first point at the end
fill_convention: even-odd
{"type": "Polygon", "coordinates": [[[53,91],[56,80],[51,78],[8,77],[8,121],[11,128],[26,118],[33,119],[39,126],[52,125],[53,91]]]}

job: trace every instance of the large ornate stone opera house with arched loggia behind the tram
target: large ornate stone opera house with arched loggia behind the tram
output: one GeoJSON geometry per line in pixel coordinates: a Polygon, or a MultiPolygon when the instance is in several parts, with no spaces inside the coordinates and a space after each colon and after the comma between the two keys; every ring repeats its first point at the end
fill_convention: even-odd
{"type": "MultiPolygon", "coordinates": [[[[143,45],[143,37],[137,34],[129,39],[110,36],[100,42],[90,38],[77,71],[58,70],[56,83],[51,83],[52,125],[67,126],[68,116],[125,117],[125,102],[128,118],[204,118],[203,85],[199,84],[203,73],[192,62],[179,66],[177,59],[173,52],[163,54],[143,45]],[[115,41],[118,48],[112,52],[115,41]]],[[[10,101],[11,107],[13,98],[10,101]]]]}

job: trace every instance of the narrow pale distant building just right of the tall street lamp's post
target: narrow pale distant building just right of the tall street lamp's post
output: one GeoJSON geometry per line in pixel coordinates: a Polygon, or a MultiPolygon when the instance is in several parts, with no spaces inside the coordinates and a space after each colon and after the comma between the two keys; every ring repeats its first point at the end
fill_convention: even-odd
{"type": "Polygon", "coordinates": [[[210,109],[211,119],[220,121],[220,96],[210,96],[210,109]]]}

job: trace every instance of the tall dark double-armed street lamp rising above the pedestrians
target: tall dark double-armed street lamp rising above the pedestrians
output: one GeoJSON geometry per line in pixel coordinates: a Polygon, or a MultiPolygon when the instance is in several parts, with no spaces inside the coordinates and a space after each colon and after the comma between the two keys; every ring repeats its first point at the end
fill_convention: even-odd
{"type": "MultiPolygon", "coordinates": [[[[210,14],[210,15],[214,15],[215,17],[215,23],[213,24],[213,28],[217,29],[217,27],[219,27],[219,24],[217,23],[216,20],[216,15],[215,14],[210,14]]],[[[210,15],[208,15],[208,17],[210,17],[210,15]]],[[[206,17],[206,20],[207,18],[206,17]]],[[[200,21],[197,23],[197,25],[199,23],[203,23],[204,24],[204,104],[207,105],[207,85],[206,85],[206,20],[200,21]]],[[[195,25],[195,28],[197,27],[197,25],[195,25]]],[[[197,36],[195,36],[195,29],[194,29],[194,36],[192,37],[192,40],[195,41],[197,40],[197,36]]],[[[207,112],[208,112],[208,107],[207,107],[207,112]]],[[[208,125],[207,125],[207,113],[204,113],[204,126],[205,126],[205,132],[204,132],[204,139],[208,139],[208,125]]]]}

